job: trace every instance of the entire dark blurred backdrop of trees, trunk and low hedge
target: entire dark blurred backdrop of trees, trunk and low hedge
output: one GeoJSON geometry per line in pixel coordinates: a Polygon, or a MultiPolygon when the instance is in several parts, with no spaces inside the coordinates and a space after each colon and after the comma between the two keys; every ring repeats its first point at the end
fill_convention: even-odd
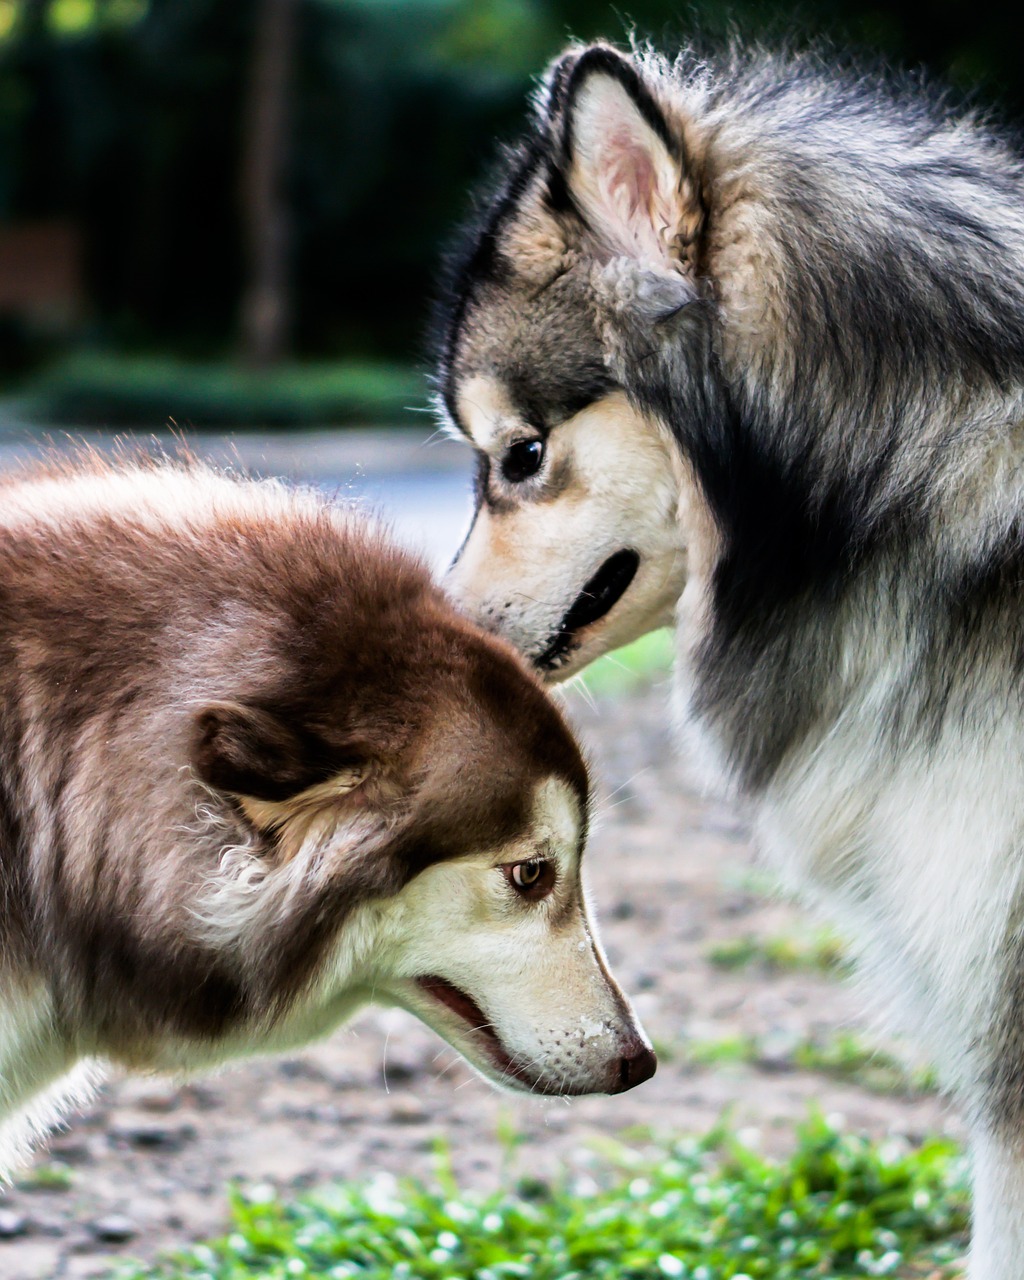
{"type": "Polygon", "coordinates": [[[826,36],[1024,119],[1009,4],[0,0],[0,387],[65,422],[394,421],[531,77],[628,26],[826,36]]]}

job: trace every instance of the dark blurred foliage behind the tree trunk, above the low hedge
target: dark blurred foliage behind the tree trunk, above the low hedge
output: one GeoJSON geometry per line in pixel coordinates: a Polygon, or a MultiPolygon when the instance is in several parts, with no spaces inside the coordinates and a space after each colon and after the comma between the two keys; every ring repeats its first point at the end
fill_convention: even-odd
{"type": "MultiPolygon", "coordinates": [[[[1024,116],[1024,10],[936,0],[297,0],[287,152],[293,348],[408,355],[439,246],[564,44],[628,23],[925,64],[1024,116]]],[[[229,353],[256,0],[0,0],[0,221],[82,229],[87,335],[229,353]]]]}

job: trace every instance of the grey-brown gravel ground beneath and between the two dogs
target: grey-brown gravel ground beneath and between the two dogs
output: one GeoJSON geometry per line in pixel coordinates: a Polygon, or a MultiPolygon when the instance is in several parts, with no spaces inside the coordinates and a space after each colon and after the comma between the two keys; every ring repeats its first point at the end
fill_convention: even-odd
{"type": "Polygon", "coordinates": [[[119,1257],[218,1234],[233,1179],[293,1190],[381,1170],[429,1178],[439,1140],[465,1185],[489,1188],[522,1171],[585,1171],[598,1139],[643,1149],[704,1132],[726,1110],[768,1149],[785,1148],[810,1105],[874,1135],[959,1137],[933,1096],[877,1094],[792,1068],[795,1042],[858,1030],[859,1001],[842,983],[709,963],[717,942],[806,922],[764,896],[741,820],[687,785],[667,700],[657,684],[595,708],[568,700],[605,796],[590,886],[613,969],[659,1050],[652,1082],[571,1105],[503,1097],[413,1019],[380,1010],[297,1057],[184,1085],[114,1080],[0,1197],[0,1276],[106,1276],[119,1257]],[[687,1057],[687,1043],[731,1036],[763,1037],[758,1061],[687,1057]]]}

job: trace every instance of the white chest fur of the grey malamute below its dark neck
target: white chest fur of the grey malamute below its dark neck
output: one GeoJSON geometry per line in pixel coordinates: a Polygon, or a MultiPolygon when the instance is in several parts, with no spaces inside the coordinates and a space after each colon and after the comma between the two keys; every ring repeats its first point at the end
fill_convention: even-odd
{"type": "MultiPolygon", "coordinates": [[[[876,694],[878,690],[876,690],[876,694]]],[[[754,805],[785,884],[855,940],[873,997],[970,1088],[1014,952],[1024,879],[1024,735],[1005,712],[893,751],[854,699],[754,805]]]]}

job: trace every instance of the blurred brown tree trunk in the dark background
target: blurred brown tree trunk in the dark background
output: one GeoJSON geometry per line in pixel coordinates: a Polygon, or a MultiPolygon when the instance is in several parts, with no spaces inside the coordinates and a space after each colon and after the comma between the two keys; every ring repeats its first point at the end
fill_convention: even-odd
{"type": "Polygon", "coordinates": [[[242,357],[251,365],[274,364],[288,349],[292,306],[285,187],[298,4],[256,0],[239,191],[246,266],[239,337],[242,357]]]}

